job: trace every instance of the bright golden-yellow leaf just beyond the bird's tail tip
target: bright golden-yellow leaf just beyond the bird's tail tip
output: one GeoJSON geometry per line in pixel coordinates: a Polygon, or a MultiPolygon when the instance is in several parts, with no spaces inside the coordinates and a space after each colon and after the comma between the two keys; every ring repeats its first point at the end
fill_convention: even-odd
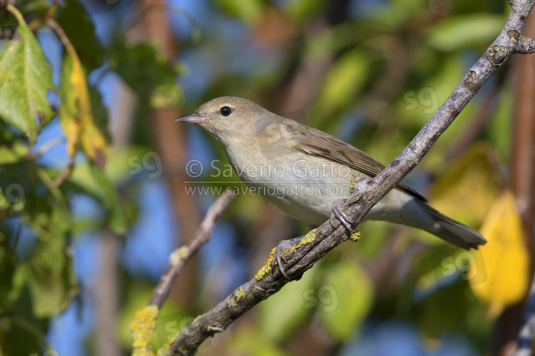
{"type": "Polygon", "coordinates": [[[477,297],[489,305],[489,314],[497,316],[521,300],[528,287],[529,257],[513,193],[506,190],[494,201],[480,231],[489,242],[474,254],[472,263],[478,270],[485,268],[487,278],[484,283],[469,282],[477,297]]]}

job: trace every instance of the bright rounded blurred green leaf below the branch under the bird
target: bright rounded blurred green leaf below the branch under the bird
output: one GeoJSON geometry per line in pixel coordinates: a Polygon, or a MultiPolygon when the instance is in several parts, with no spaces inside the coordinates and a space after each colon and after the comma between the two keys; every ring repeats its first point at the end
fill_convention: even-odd
{"type": "Polygon", "coordinates": [[[360,265],[345,260],[330,266],[323,282],[316,311],[333,339],[346,340],[372,308],[372,282],[360,265]]]}

